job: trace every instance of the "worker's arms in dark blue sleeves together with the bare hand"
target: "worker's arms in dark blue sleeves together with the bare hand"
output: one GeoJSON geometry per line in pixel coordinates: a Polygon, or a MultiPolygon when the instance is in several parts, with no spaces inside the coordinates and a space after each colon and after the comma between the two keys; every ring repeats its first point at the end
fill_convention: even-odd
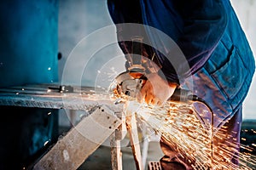
{"type": "MultiPolygon", "coordinates": [[[[184,54],[184,59],[181,59],[178,50],[169,46],[168,41],[165,42],[165,38],[159,37],[154,31],[146,29],[147,33],[142,33],[153,46],[146,50],[146,57],[150,59],[154,53],[157,54],[154,58],[160,61],[160,72],[164,74],[162,79],[155,73],[148,75],[151,81],[145,84],[139,97],[148,103],[165,101],[172,95],[177,84],[200,70],[218,44],[226,26],[224,5],[218,0],[124,0],[122,3],[119,0],[108,0],[108,10],[115,24],[141,23],[163,31],[184,54]]],[[[127,40],[133,33],[136,35],[137,30],[133,26],[126,26],[117,26],[117,36],[124,54],[131,54],[131,42],[127,40]]]]}

